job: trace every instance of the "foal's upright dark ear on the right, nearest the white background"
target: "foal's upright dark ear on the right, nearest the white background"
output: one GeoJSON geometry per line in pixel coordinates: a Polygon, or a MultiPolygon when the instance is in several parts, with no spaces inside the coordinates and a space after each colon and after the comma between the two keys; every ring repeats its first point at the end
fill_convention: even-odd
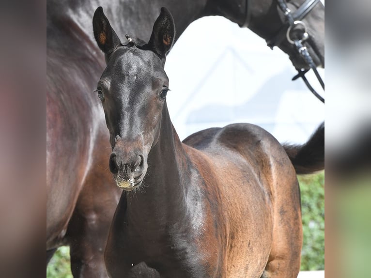
{"type": "Polygon", "coordinates": [[[165,59],[175,36],[175,25],[168,9],[162,7],[152,30],[148,46],[161,58],[165,59]]]}

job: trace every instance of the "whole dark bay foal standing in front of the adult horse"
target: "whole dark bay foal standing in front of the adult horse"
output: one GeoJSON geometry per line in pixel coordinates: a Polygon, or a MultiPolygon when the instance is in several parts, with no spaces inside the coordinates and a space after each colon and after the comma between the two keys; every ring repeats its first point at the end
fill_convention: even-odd
{"type": "Polygon", "coordinates": [[[124,189],[105,252],[109,275],[296,277],[302,227],[294,167],[323,168],[321,155],[300,158],[323,154],[323,127],[286,150],[252,124],[203,130],[182,143],[166,105],[170,13],[161,9],[148,43],[122,44],[102,8],[93,29],[107,62],[97,93],[113,150],[109,169],[124,189]]]}

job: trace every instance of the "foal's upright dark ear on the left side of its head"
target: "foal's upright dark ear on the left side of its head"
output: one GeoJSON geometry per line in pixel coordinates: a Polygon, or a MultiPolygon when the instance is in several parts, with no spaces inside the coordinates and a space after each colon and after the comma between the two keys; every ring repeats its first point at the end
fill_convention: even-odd
{"type": "Polygon", "coordinates": [[[121,44],[119,37],[111,28],[106,15],[103,13],[102,7],[95,10],[93,31],[96,43],[105,54],[110,54],[117,45],[121,44]]]}

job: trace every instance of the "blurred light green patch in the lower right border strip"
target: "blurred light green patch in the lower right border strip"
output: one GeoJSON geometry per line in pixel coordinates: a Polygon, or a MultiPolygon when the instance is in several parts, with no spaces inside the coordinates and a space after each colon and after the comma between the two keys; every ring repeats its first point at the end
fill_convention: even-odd
{"type": "Polygon", "coordinates": [[[371,173],[343,177],[337,186],[331,200],[335,216],[331,220],[331,253],[338,272],[334,274],[339,278],[370,277],[371,173]]]}

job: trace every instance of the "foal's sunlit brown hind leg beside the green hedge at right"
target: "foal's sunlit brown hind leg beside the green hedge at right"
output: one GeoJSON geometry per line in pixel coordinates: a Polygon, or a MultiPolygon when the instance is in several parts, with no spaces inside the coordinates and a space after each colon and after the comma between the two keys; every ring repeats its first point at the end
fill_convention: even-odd
{"type": "Polygon", "coordinates": [[[262,278],[296,278],[303,242],[300,192],[296,178],[276,202],[273,243],[262,278]]]}

